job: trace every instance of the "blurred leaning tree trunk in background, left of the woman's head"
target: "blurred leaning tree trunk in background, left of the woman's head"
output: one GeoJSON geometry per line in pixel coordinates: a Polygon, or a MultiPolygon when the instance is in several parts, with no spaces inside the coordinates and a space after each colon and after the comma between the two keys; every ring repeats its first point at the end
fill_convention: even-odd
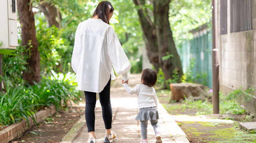
{"type": "MultiPolygon", "coordinates": [[[[42,4],[38,4],[39,9],[45,14],[45,17],[49,23],[49,26],[55,25],[56,27],[60,28],[59,23],[56,21],[57,14],[57,8],[52,3],[44,2],[42,4]]],[[[59,12],[60,15],[60,12],[59,12]]],[[[60,16],[61,19],[61,16],[60,16]]],[[[59,19],[59,20],[60,20],[59,19]]]]}

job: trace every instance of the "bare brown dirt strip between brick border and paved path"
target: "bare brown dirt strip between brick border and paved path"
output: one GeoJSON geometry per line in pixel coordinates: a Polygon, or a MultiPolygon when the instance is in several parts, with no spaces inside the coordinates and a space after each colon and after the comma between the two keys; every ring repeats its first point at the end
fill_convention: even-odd
{"type": "Polygon", "coordinates": [[[49,116],[11,143],[59,143],[70,128],[84,115],[84,107],[70,107],[49,116]]]}

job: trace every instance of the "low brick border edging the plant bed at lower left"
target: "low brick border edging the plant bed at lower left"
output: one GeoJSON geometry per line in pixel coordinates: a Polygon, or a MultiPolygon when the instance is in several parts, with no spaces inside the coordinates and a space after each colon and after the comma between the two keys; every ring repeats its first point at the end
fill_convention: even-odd
{"type": "MultiPolygon", "coordinates": [[[[36,113],[36,122],[39,123],[47,118],[49,114],[52,115],[54,113],[56,113],[55,106],[47,107],[45,110],[40,110],[36,113]]],[[[14,139],[17,139],[22,135],[22,133],[36,125],[33,123],[33,119],[31,117],[29,117],[28,120],[30,125],[29,127],[28,123],[25,120],[22,120],[21,122],[12,124],[6,129],[0,131],[0,143],[8,143],[14,139]]]]}

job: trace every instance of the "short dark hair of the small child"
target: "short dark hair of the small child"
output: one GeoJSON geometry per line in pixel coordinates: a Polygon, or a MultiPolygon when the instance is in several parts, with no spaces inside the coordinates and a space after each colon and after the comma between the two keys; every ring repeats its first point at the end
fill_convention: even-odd
{"type": "Polygon", "coordinates": [[[144,69],[141,74],[142,84],[152,87],[156,84],[157,74],[152,69],[144,69]]]}

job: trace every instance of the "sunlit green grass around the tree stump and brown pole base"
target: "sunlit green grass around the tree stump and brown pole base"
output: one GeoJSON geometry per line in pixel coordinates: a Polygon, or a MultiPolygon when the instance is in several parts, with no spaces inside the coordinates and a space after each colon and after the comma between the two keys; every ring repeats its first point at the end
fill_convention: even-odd
{"type": "MultiPolygon", "coordinates": [[[[187,115],[210,115],[213,111],[212,102],[209,100],[188,100],[182,102],[170,101],[171,91],[156,88],[157,97],[170,114],[187,114],[187,115]]],[[[241,115],[245,113],[234,99],[229,99],[220,93],[220,114],[241,115]]],[[[244,115],[245,117],[245,115],[244,115]]],[[[230,118],[233,120],[233,118],[230,118]]],[[[251,121],[252,117],[248,116],[244,121],[251,121]]]]}

